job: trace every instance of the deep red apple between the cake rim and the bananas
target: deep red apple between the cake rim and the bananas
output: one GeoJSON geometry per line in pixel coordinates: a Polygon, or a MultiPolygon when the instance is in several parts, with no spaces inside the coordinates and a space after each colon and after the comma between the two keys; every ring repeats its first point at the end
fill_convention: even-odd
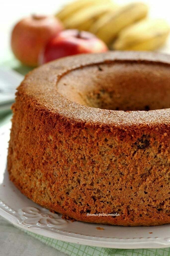
{"type": "Polygon", "coordinates": [[[48,42],[40,57],[40,64],[69,55],[107,50],[106,44],[89,32],[76,29],[63,30],[48,42]]]}

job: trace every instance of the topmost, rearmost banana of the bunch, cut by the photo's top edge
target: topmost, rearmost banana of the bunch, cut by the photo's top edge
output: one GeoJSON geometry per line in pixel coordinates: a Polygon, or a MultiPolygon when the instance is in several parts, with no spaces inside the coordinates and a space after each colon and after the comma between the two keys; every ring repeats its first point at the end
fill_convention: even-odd
{"type": "MultiPolygon", "coordinates": [[[[111,2],[111,0],[106,0],[106,3],[111,2]]],[[[77,0],[74,2],[71,2],[64,6],[57,14],[56,17],[58,17],[61,21],[64,21],[65,19],[72,16],[75,12],[89,7],[93,6],[95,4],[101,4],[103,3],[103,0],[77,0]]]]}

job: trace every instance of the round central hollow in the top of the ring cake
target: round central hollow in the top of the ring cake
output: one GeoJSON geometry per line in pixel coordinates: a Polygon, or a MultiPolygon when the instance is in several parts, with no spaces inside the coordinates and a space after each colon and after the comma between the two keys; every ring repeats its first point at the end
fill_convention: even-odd
{"type": "Polygon", "coordinates": [[[71,71],[58,91],[76,103],[109,110],[170,108],[169,67],[155,63],[101,64],[71,71]]]}

